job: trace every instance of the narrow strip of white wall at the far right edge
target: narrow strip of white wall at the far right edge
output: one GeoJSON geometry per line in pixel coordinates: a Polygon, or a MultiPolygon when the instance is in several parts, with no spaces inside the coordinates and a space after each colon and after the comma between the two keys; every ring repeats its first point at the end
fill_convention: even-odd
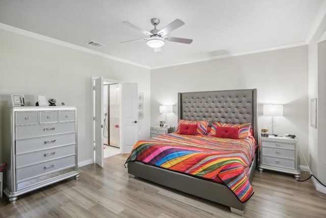
{"type": "MultiPolygon", "coordinates": [[[[317,98],[317,129],[309,130],[309,164],[314,174],[323,184],[326,184],[326,77],[325,54],[318,53],[318,41],[326,31],[326,16],[321,19],[312,39],[309,42],[309,99],[317,98]],[[320,57],[318,57],[318,55],[320,57]],[[323,55],[323,56],[321,56],[323,55]],[[319,65],[320,64],[320,65],[319,65]],[[319,65],[319,66],[318,66],[319,65]]],[[[320,48],[323,46],[320,45],[320,48]]],[[[321,51],[320,51],[321,52],[321,51]]],[[[309,111],[310,112],[310,111],[309,111]]],[[[310,113],[309,113],[310,114],[310,113]]],[[[310,120],[309,120],[310,122],[310,120]]],[[[310,123],[309,123],[310,124],[310,123]]],[[[317,190],[326,193],[326,188],[313,180],[317,190]]]]}

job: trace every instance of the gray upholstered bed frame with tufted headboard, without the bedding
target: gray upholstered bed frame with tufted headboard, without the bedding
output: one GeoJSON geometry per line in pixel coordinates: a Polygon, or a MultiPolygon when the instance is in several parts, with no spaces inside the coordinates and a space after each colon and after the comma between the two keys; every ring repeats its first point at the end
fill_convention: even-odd
{"type": "MultiPolygon", "coordinates": [[[[257,89],[204,91],[178,93],[178,118],[210,120],[221,123],[252,123],[257,138],[257,89]]],[[[257,154],[249,171],[252,182],[257,165],[257,154]]],[[[142,162],[129,162],[130,177],[140,177],[160,185],[229,206],[231,212],[243,215],[244,205],[224,184],[169,171],[142,162]]]]}

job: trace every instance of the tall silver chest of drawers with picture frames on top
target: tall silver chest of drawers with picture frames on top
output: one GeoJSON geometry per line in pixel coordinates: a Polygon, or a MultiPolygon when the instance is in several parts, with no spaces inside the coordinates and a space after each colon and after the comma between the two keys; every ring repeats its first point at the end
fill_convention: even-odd
{"type": "Polygon", "coordinates": [[[76,107],[6,107],[4,192],[10,203],[40,187],[79,178],[76,107]]]}

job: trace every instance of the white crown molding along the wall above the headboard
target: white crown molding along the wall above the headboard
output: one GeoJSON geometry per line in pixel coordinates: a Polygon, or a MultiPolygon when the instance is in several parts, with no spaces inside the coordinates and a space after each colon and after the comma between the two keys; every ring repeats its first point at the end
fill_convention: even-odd
{"type": "Polygon", "coordinates": [[[198,63],[198,62],[204,62],[204,61],[211,61],[211,60],[222,59],[222,58],[230,58],[230,57],[250,55],[250,54],[262,53],[262,52],[270,52],[270,51],[281,50],[281,49],[289,49],[291,47],[298,47],[298,46],[303,46],[303,45],[307,45],[307,43],[303,41],[303,42],[297,42],[297,43],[292,43],[292,44],[279,45],[279,46],[275,46],[275,47],[268,47],[265,49],[258,49],[258,50],[251,50],[251,51],[247,51],[247,52],[219,55],[219,56],[203,58],[203,59],[198,59],[198,60],[193,60],[193,61],[185,61],[185,62],[170,64],[170,65],[162,65],[162,66],[152,67],[151,69],[160,69],[160,68],[166,68],[166,67],[172,67],[172,66],[179,66],[179,65],[192,64],[192,63],[198,63]]]}

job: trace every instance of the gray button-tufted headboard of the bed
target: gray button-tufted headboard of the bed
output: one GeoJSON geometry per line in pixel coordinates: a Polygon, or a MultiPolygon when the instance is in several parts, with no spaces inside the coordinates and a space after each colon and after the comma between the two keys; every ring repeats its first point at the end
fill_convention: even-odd
{"type": "Polygon", "coordinates": [[[178,118],[221,123],[251,123],[257,136],[257,89],[178,93],[178,118]]]}

